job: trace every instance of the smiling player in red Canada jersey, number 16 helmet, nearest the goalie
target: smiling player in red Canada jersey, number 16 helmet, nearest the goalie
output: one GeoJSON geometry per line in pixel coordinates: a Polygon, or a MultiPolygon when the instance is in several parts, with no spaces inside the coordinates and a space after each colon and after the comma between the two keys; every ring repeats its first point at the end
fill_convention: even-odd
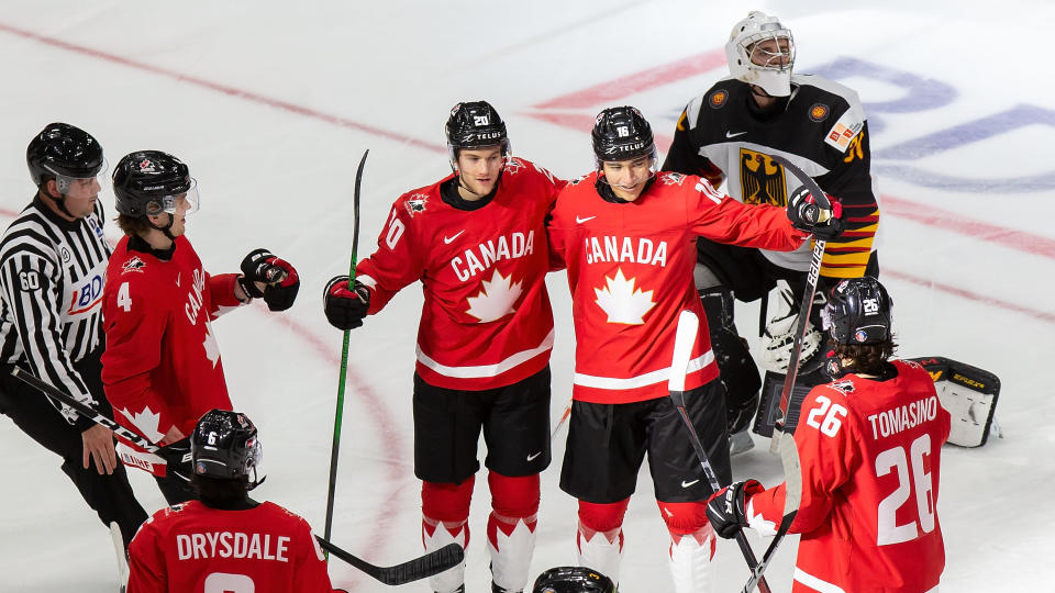
{"type": "MultiPolygon", "coordinates": [[[[702,235],[791,250],[840,222],[807,200],[788,214],[746,206],[699,177],[655,172],[652,128],[630,107],[607,109],[593,127],[598,170],[568,184],[549,223],[554,266],[566,267],[575,317],[574,402],[560,488],[579,499],[579,562],[618,582],[623,514],[647,452],[670,532],[678,593],[706,591],[714,538],[711,493],[667,381],[681,311],[702,316],[692,287],[702,235]],[[809,220],[824,222],[810,224],[809,220]]],[[[707,333],[692,347],[686,407],[719,479],[731,480],[725,403],[707,333]]]]}

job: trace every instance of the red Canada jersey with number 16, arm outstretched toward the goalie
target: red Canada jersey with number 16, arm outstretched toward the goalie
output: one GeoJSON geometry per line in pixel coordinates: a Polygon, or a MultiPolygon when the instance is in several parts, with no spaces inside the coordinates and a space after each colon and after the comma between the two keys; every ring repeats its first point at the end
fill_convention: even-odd
{"type": "MultiPolygon", "coordinates": [[[[553,266],[566,267],[575,316],[573,396],[628,403],[666,396],[677,320],[703,307],[692,284],[696,236],[791,250],[808,236],[782,209],[745,206],[699,177],[660,172],[628,203],[608,202],[597,172],[568,184],[549,223],[553,266]]],[[[706,323],[685,388],[718,377],[706,323]]]]}

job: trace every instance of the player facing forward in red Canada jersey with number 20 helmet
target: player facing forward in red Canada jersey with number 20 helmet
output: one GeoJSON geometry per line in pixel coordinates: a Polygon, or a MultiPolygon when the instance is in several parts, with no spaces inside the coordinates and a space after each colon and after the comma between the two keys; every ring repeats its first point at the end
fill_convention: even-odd
{"type": "MultiPolygon", "coordinates": [[[[421,280],[414,373],[414,473],[423,481],[426,550],[468,544],[480,430],[492,512],[493,591],[522,591],[534,549],[538,473],[549,465],[553,313],[543,222],[564,182],[509,154],[506,124],[486,101],[458,103],[446,126],[454,174],[404,193],[356,278],[330,281],[325,314],[363,324],[421,280]]],[[[465,564],[431,579],[464,590],[465,564]]]]}

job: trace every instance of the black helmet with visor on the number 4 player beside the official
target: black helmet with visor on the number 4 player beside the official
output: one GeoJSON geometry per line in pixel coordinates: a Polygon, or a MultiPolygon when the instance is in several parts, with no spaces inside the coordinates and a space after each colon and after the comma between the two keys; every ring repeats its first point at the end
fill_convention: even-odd
{"type": "Polygon", "coordinates": [[[157,216],[175,212],[176,199],[191,194],[197,210],[198,195],[190,169],[181,160],[160,150],[137,150],[125,155],[113,168],[116,209],[127,216],[157,216]]]}

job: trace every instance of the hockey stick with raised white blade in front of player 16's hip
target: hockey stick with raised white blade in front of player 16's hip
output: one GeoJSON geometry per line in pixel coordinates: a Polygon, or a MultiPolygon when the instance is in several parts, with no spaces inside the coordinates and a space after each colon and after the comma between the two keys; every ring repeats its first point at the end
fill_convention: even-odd
{"type": "MultiPolygon", "coordinates": [[[[700,467],[703,468],[703,474],[707,475],[707,481],[711,484],[711,492],[718,493],[718,491],[722,489],[722,485],[718,481],[718,475],[714,473],[714,468],[711,466],[710,459],[707,458],[707,451],[703,450],[703,444],[700,443],[699,435],[696,434],[696,427],[692,426],[689,414],[685,411],[685,377],[689,373],[692,345],[696,343],[696,335],[699,332],[699,327],[700,318],[696,313],[682,311],[681,315],[678,316],[678,329],[674,338],[674,356],[670,360],[670,379],[667,385],[670,390],[670,400],[674,402],[675,407],[678,409],[678,414],[681,415],[681,422],[685,423],[685,427],[689,432],[689,440],[692,441],[692,448],[696,449],[696,456],[700,460],[700,467]]],[[[762,591],[762,593],[769,593],[769,583],[766,582],[766,578],[762,575],[762,572],[755,572],[758,560],[755,558],[755,551],[751,548],[751,544],[747,541],[747,536],[744,535],[743,529],[736,532],[736,544],[744,553],[744,560],[747,561],[747,567],[752,570],[752,577],[757,575],[758,590],[762,591]]]]}

